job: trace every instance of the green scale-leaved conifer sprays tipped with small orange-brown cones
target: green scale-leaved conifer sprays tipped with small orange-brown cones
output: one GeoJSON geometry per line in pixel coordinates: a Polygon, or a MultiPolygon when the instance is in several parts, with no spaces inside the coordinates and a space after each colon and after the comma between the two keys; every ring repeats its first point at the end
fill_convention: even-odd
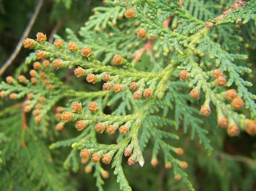
{"type": "Polygon", "coordinates": [[[65,169],[84,164],[99,190],[107,165],[132,190],[125,163],[163,164],[174,183],[198,188],[192,165],[206,164],[185,141],[196,139],[193,152],[214,166],[225,158],[216,136],[256,134],[255,11],[255,0],[106,0],[79,36],[67,28],[54,43],[43,32],[26,38],[30,71],[0,85],[2,99],[21,100],[0,112],[0,184],[14,180],[18,159],[27,169],[18,180],[31,190],[71,190],[65,169]],[[62,155],[62,147],[72,148],[62,155]]]}

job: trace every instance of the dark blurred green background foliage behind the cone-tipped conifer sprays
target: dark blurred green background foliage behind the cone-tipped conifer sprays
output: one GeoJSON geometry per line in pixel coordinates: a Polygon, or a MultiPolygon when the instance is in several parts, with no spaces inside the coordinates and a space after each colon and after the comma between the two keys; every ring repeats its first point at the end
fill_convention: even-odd
{"type": "MultiPolygon", "coordinates": [[[[29,23],[33,15],[37,3],[38,1],[34,0],[0,1],[0,66],[3,65],[14,51],[27,23],[29,23]]],[[[103,2],[100,0],[45,0],[36,22],[30,31],[29,37],[35,38],[35,34],[40,31],[46,33],[49,40],[52,39],[55,33],[65,39],[65,28],[69,27],[77,33],[79,28],[84,25],[84,22],[88,20],[88,17],[92,15],[92,9],[101,5],[103,5],[103,2]]],[[[254,41],[251,41],[251,43],[255,46],[254,41]]],[[[24,62],[24,59],[29,53],[29,50],[21,49],[12,65],[1,76],[1,80],[8,75],[13,75],[15,69],[19,67],[20,63],[24,62]]],[[[251,58],[255,76],[255,52],[250,52],[249,58],[251,58]]],[[[62,76],[66,74],[64,70],[58,72],[63,73],[62,76]]],[[[255,79],[251,80],[255,83],[255,79]]],[[[78,85],[75,84],[75,86],[77,87],[78,85]]],[[[251,92],[256,92],[255,86],[251,88],[251,92]]],[[[12,104],[14,104],[14,101],[7,103],[7,105],[12,104]]],[[[8,123],[4,121],[6,114],[10,115],[12,113],[0,113],[1,128],[11,126],[11,124],[9,126],[11,122],[8,123]]],[[[12,115],[17,115],[16,122],[21,123],[19,121],[20,112],[14,112],[12,115]]],[[[246,133],[242,133],[237,138],[229,138],[224,130],[216,128],[216,123],[213,121],[217,120],[215,118],[204,119],[204,126],[209,130],[208,137],[214,147],[214,152],[211,156],[207,156],[206,151],[204,151],[202,146],[198,143],[198,140],[190,140],[190,134],[184,134],[181,130],[178,132],[180,140],[177,140],[175,145],[184,148],[185,154],[182,159],[189,163],[187,172],[192,184],[194,184],[196,190],[256,190],[256,162],[254,160],[256,158],[255,136],[251,137],[246,133]]],[[[34,153],[38,154],[39,152],[44,157],[45,155],[49,155],[48,160],[53,160],[54,162],[45,164],[49,165],[49,170],[55,169],[55,171],[48,171],[48,173],[56,175],[53,179],[54,181],[62,181],[61,183],[55,182],[56,187],[49,187],[49,190],[50,188],[58,190],[97,190],[93,175],[85,174],[83,165],[80,166],[79,171],[76,173],[71,170],[65,170],[62,167],[67,154],[70,152],[70,148],[48,150],[48,146],[53,140],[57,141],[71,138],[74,133],[77,132],[67,128],[66,132],[61,135],[53,133],[50,136],[38,138],[41,142],[34,140],[37,145],[31,148],[40,149],[34,153]],[[50,152],[50,154],[48,152],[50,152]]],[[[109,137],[109,139],[111,139],[111,137],[109,137]]],[[[0,139],[0,142],[1,141],[0,139]]],[[[17,142],[19,143],[19,140],[17,142]]],[[[104,142],[104,140],[101,142],[104,142]]],[[[27,147],[27,149],[29,148],[30,147],[27,147]]],[[[29,166],[22,166],[23,164],[27,164],[23,163],[22,160],[30,159],[30,155],[24,153],[26,152],[17,152],[16,154],[20,154],[20,160],[8,163],[8,166],[5,167],[6,169],[3,169],[9,170],[10,172],[15,170],[16,176],[7,176],[4,172],[3,174],[1,173],[1,178],[3,175],[5,177],[2,178],[0,183],[0,190],[44,190],[42,189],[44,186],[40,187],[37,185],[36,179],[30,181],[30,178],[27,177],[27,182],[24,181],[25,177],[22,176],[27,176],[26,171],[29,169],[29,166]],[[19,165],[19,168],[16,168],[17,165],[19,165]],[[6,181],[5,184],[9,185],[1,185],[4,180],[6,181]],[[17,182],[15,183],[15,181],[17,182]]],[[[161,153],[159,155],[159,161],[163,161],[161,160],[161,153]]],[[[146,164],[143,168],[140,168],[138,164],[130,167],[126,162],[123,163],[124,172],[126,172],[127,179],[133,190],[187,190],[182,182],[177,183],[177,181],[174,180],[172,172],[165,169],[164,164],[160,163],[157,168],[153,168],[150,165],[151,149],[145,150],[144,157],[146,164]]],[[[38,166],[35,168],[38,168],[38,166]]],[[[112,175],[110,166],[105,165],[104,168],[110,171],[110,177],[105,181],[105,190],[118,190],[116,177],[112,175]]],[[[13,175],[13,173],[10,174],[13,175]]],[[[48,176],[48,178],[51,177],[48,176]]]]}

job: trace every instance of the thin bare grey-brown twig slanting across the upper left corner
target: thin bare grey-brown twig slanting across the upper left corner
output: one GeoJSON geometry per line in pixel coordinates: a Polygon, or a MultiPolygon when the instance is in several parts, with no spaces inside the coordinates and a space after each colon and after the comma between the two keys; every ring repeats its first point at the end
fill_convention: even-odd
{"type": "Polygon", "coordinates": [[[43,0],[39,0],[35,9],[35,12],[33,13],[33,16],[30,19],[29,25],[27,25],[24,33],[22,34],[19,43],[16,45],[15,50],[13,51],[12,55],[7,59],[7,61],[3,64],[1,70],[0,70],[0,76],[3,75],[4,71],[12,64],[18,53],[20,52],[20,49],[22,47],[22,41],[29,35],[30,30],[32,26],[34,25],[37,15],[39,13],[39,10],[41,9],[43,5],[43,0]]]}

